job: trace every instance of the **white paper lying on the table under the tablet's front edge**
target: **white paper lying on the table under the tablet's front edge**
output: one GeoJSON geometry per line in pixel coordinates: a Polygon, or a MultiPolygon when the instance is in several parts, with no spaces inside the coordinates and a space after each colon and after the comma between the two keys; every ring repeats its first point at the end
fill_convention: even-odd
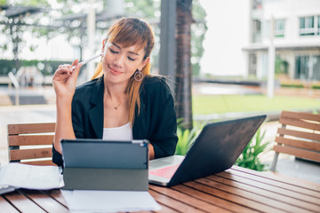
{"type": "Polygon", "coordinates": [[[61,190],[70,212],[151,211],[161,207],[146,191],[61,190]]]}

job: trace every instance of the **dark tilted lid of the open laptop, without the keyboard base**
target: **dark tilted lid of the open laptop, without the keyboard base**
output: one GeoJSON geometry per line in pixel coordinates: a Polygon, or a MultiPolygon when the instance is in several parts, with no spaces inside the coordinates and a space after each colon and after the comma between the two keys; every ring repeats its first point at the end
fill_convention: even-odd
{"type": "Polygon", "coordinates": [[[169,185],[206,177],[232,167],[266,115],[207,124],[169,185]]]}

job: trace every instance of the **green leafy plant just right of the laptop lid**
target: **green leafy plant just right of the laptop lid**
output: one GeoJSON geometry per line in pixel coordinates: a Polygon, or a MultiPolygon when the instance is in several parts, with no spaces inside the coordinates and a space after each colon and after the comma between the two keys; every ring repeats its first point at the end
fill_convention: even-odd
{"type": "Polygon", "coordinates": [[[265,131],[261,134],[259,129],[254,137],[249,142],[248,146],[244,148],[244,152],[236,160],[235,165],[248,168],[251,170],[263,171],[266,170],[267,164],[260,162],[259,155],[266,150],[270,142],[262,143],[262,139],[265,136],[265,131]]]}

